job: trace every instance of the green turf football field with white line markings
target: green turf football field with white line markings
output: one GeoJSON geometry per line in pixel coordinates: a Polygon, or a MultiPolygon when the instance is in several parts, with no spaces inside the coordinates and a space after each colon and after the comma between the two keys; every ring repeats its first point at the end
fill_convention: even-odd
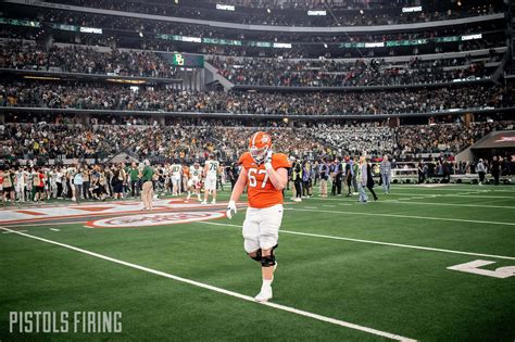
{"type": "Polygon", "coordinates": [[[242,250],[244,210],[231,220],[0,233],[0,340],[514,341],[515,187],[376,190],[379,201],[366,205],[287,201],[278,306],[247,300],[261,275],[242,250]],[[448,269],[479,259],[494,262],[480,267],[490,275],[508,275],[448,269]],[[14,311],[122,312],[123,331],[9,333],[14,311]]]}

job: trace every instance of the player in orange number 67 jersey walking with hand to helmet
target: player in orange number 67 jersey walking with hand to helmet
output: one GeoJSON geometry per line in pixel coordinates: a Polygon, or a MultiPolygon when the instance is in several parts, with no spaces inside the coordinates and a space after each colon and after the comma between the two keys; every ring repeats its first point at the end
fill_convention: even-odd
{"type": "Polygon", "coordinates": [[[272,152],[272,137],[263,131],[249,141],[249,152],[239,160],[241,172],[230,194],[227,217],[236,214],[236,201],[248,188],[249,207],[243,221],[244,250],[261,264],[263,283],[258,302],[272,299],[272,282],[277,267],[274,250],[277,248],[282,220],[282,190],[288,181],[288,157],[272,152]]]}

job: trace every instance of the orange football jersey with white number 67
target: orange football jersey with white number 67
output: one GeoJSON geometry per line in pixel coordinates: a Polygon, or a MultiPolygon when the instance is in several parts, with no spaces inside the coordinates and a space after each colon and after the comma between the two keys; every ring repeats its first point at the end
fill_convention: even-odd
{"type": "MultiPolygon", "coordinates": [[[[264,163],[258,165],[250,153],[246,152],[241,155],[239,164],[247,170],[249,206],[261,208],[282,204],[282,191],[277,190],[268,180],[264,163]]],[[[291,167],[291,164],[286,154],[274,153],[272,154],[272,166],[274,169],[288,168],[291,167]]]]}

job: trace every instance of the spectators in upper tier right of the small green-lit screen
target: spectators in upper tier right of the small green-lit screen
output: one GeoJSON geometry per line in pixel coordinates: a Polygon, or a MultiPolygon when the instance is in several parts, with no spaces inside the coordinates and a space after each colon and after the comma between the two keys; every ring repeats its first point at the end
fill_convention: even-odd
{"type": "Polygon", "coordinates": [[[210,60],[218,74],[237,85],[282,87],[354,87],[449,83],[468,77],[488,77],[485,63],[463,60],[420,61],[388,64],[385,60],[369,62],[221,59],[210,60]],[[445,66],[453,66],[445,71],[445,66]]]}

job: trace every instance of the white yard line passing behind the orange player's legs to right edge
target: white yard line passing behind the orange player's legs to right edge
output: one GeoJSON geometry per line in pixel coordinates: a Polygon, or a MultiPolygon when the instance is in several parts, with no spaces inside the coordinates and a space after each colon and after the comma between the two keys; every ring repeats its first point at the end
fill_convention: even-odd
{"type": "MultiPolygon", "coordinates": [[[[238,225],[231,224],[218,224],[218,223],[210,223],[210,221],[198,221],[199,224],[205,225],[215,225],[215,226],[228,226],[228,227],[237,227],[241,228],[238,225]]],[[[463,252],[463,251],[453,251],[453,250],[445,250],[445,249],[436,249],[436,248],[426,248],[423,245],[413,245],[413,244],[402,244],[402,243],[392,243],[392,242],[382,242],[382,241],[374,241],[374,240],[363,240],[363,239],[353,239],[353,238],[343,238],[343,237],[335,237],[335,236],[325,236],[318,233],[311,233],[311,232],[300,232],[300,231],[292,231],[292,230],[284,230],[279,229],[279,233],[291,233],[296,236],[304,236],[304,237],[312,237],[312,238],[323,238],[323,239],[332,239],[332,240],[343,240],[343,241],[351,241],[351,242],[362,242],[362,243],[372,243],[372,244],[380,244],[380,245],[390,245],[403,249],[412,249],[412,250],[422,250],[422,251],[431,251],[431,252],[443,252],[443,253],[452,253],[452,254],[463,254],[463,255],[473,255],[473,256],[485,256],[485,257],[494,257],[494,258],[503,258],[507,261],[515,261],[515,256],[504,256],[504,255],[495,255],[495,254],[482,254],[482,253],[473,253],[473,252],[463,252]]]]}

